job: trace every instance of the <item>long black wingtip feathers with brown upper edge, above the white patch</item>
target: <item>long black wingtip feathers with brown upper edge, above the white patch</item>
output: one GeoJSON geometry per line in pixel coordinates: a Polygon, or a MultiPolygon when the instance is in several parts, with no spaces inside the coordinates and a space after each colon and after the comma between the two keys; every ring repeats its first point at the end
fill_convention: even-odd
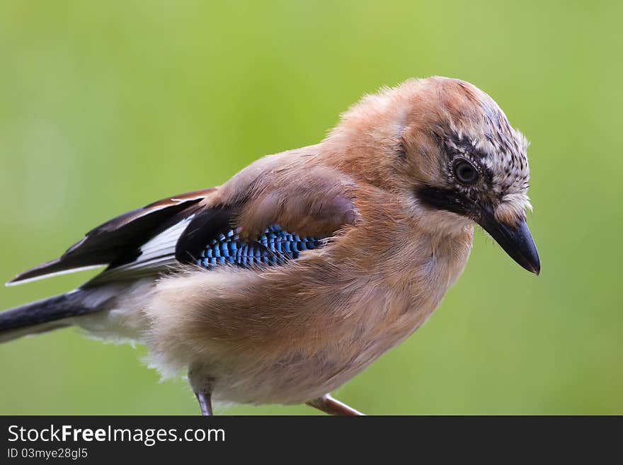
{"type": "Polygon", "coordinates": [[[7,284],[122,260],[172,220],[202,208],[200,202],[216,190],[210,188],[168,197],[115,217],[89,231],[84,239],[67,249],[60,258],[30,268],[7,284]]]}

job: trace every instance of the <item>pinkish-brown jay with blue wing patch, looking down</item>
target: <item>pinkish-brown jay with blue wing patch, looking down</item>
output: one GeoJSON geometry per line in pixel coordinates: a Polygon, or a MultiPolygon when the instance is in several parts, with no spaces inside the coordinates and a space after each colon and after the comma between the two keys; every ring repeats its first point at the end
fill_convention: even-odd
{"type": "Polygon", "coordinates": [[[464,270],[474,226],[539,274],[527,139],[460,79],[363,96],[318,144],[89,231],[7,285],[105,267],[0,313],[0,342],[67,326],[147,346],[162,377],[213,403],[304,404],[420,328],[464,270]]]}

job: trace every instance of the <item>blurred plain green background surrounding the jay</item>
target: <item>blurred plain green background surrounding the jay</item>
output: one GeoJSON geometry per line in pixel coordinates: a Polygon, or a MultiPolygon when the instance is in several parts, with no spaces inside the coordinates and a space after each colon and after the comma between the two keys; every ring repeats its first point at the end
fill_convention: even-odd
{"type": "MultiPolygon", "coordinates": [[[[372,414],[623,413],[623,3],[224,3],[1,2],[0,279],[318,142],[362,93],[458,77],[531,141],[542,274],[477,234],[433,318],[337,396],[372,414]]],[[[86,277],[2,288],[0,309],[86,277]]],[[[72,329],[1,345],[0,413],[198,413],[144,354],[72,329]]]]}

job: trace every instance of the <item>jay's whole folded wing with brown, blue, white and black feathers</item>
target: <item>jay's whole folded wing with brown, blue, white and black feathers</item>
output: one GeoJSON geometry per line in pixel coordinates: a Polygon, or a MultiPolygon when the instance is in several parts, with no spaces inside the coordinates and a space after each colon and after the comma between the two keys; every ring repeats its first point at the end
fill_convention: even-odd
{"type": "Polygon", "coordinates": [[[278,265],[322,246],[324,239],[355,221],[348,183],[328,176],[326,170],[280,180],[281,187],[265,174],[240,185],[234,178],[232,195],[212,188],[133,210],[93,229],[60,258],[8,284],[97,265],[108,268],[86,286],[159,275],[181,264],[207,269],[227,263],[246,268],[278,265]]]}

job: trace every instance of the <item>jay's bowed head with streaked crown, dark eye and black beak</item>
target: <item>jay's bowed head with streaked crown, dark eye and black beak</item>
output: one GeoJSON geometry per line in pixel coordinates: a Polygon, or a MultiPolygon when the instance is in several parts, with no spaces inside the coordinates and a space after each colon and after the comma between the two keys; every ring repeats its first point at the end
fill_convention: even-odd
{"type": "Polygon", "coordinates": [[[412,202],[426,227],[476,222],[539,273],[525,222],[527,141],[479,88],[442,77],[384,88],[344,113],[327,141],[348,147],[350,171],[412,202]]]}

